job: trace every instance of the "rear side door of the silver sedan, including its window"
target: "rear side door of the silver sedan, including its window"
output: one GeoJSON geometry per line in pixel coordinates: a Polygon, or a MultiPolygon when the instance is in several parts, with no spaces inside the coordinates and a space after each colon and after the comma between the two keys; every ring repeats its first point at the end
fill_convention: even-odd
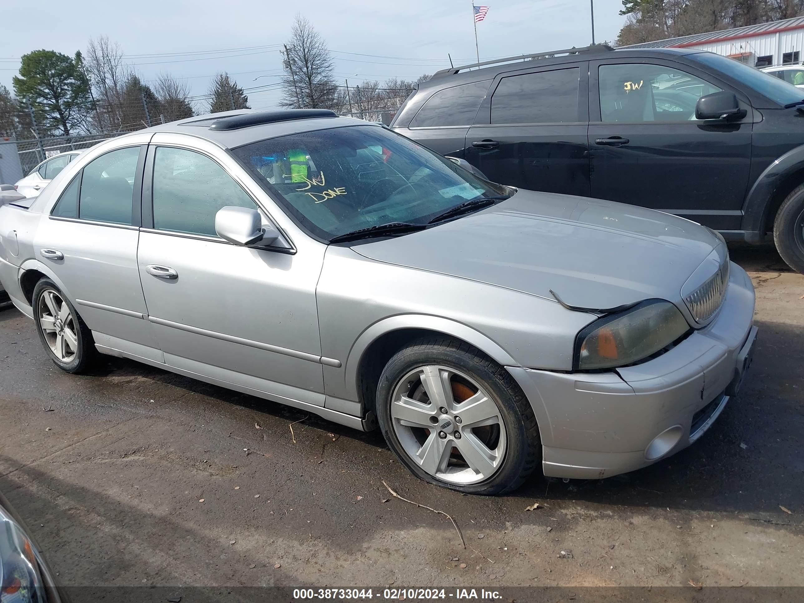
{"type": "Polygon", "coordinates": [[[161,361],[147,328],[137,269],[140,191],[148,134],[94,156],[40,223],[35,253],[93,331],[98,345],[161,361]],[[134,201],[136,200],[136,203],[134,201]]]}

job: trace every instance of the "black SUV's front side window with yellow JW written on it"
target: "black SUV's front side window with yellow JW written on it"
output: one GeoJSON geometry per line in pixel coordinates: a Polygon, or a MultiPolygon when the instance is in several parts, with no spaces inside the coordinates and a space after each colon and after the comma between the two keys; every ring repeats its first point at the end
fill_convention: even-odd
{"type": "Polygon", "coordinates": [[[642,63],[601,65],[598,81],[601,121],[694,121],[698,99],[722,90],[679,69],[642,63]]]}

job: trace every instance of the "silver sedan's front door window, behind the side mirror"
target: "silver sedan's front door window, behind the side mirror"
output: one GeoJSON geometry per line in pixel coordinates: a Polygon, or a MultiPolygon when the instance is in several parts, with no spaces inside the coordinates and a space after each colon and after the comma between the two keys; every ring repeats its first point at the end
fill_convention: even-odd
{"type": "Polygon", "coordinates": [[[160,146],[154,156],[154,228],[216,236],[215,214],[256,203],[206,155],[160,146]]]}

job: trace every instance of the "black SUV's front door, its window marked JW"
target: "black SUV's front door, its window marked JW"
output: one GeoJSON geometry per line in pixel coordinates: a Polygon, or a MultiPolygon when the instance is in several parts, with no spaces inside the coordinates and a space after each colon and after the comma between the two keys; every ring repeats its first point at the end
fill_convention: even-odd
{"type": "Polygon", "coordinates": [[[749,182],[753,111],[727,84],[662,59],[605,59],[589,67],[592,196],[738,230],[749,182]],[[739,121],[699,121],[700,96],[729,90],[739,121]]]}

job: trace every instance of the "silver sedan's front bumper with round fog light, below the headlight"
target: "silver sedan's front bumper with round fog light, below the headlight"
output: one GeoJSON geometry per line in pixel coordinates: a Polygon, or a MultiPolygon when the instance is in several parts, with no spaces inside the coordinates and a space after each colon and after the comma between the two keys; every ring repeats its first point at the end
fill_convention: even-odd
{"type": "Polygon", "coordinates": [[[658,358],[603,373],[507,367],[539,421],[544,474],[606,478],[697,440],[740,388],[757,335],[753,310],[751,280],[732,264],[716,318],[658,358]]]}

